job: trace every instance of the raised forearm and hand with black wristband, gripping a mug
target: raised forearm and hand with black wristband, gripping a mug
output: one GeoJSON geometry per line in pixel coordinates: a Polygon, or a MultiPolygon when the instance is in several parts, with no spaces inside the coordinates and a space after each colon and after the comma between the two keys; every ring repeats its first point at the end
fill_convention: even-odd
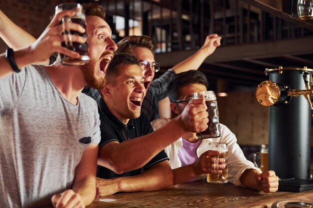
{"type": "MultiPolygon", "coordinates": [[[[50,24],[45,28],[40,37],[30,46],[14,51],[14,60],[17,67],[20,69],[29,64],[40,64],[49,59],[53,52],[60,52],[70,57],[78,57],[77,52],[71,51],[61,46],[64,41],[61,35],[62,25],[59,24],[63,16],[72,16],[74,11],[66,10],[56,14],[50,24]]],[[[84,32],[84,28],[79,24],[70,23],[69,28],[79,32],[84,32]]],[[[84,37],[72,35],[72,41],[83,43],[86,41],[84,37]]],[[[0,78],[13,73],[5,54],[0,55],[0,78]]]]}

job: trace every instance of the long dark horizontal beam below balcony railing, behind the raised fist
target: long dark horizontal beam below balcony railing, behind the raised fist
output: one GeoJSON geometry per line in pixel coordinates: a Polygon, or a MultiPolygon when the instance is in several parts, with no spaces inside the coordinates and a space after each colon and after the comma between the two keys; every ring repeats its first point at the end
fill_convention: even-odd
{"type": "MultiPolygon", "coordinates": [[[[312,42],[313,36],[253,44],[220,46],[204,60],[204,63],[313,54],[312,44],[309,44],[312,42]]],[[[185,50],[157,53],[155,54],[155,60],[161,64],[161,67],[172,67],[195,52],[196,50],[185,50]]]]}

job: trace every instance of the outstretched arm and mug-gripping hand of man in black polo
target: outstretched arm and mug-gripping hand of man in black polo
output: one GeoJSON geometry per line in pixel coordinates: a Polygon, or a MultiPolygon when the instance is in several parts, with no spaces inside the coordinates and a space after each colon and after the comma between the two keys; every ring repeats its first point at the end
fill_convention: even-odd
{"type": "Polygon", "coordinates": [[[192,100],[182,114],[162,128],[125,142],[109,142],[99,151],[98,164],[117,174],[143,167],[157,153],[186,132],[200,132],[207,128],[204,99],[192,100]]]}

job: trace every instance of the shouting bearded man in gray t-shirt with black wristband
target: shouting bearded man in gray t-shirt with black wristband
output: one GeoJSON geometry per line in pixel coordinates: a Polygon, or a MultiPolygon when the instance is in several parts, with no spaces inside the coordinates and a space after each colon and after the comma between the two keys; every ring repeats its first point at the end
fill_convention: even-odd
{"type": "MultiPolygon", "coordinates": [[[[84,208],[95,196],[99,117],[95,102],[81,93],[85,85],[101,88],[116,44],[103,8],[84,4],[90,61],[83,66],[31,63],[53,52],[77,58],[61,46],[64,16],[56,14],[29,47],[0,55],[0,202],[1,208],[42,206],[84,208]],[[24,67],[24,68],[22,68],[24,67]],[[19,68],[22,68],[21,70],[19,68]],[[14,73],[19,72],[19,73],[14,73]]],[[[85,29],[68,23],[71,30],[85,29]]]]}

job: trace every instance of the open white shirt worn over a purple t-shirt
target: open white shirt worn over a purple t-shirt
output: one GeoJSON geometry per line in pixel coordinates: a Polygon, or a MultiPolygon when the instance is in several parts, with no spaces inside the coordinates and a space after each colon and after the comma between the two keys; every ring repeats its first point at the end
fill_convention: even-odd
{"type": "MultiPolygon", "coordinates": [[[[208,143],[210,142],[224,142],[228,146],[228,182],[235,186],[242,186],[240,183],[240,176],[246,169],[254,169],[262,173],[259,168],[256,168],[252,162],[248,161],[239,145],[237,144],[236,136],[223,124],[220,124],[221,135],[218,138],[203,139],[199,145],[196,153],[197,156],[208,150],[208,143]]],[[[181,167],[181,162],[178,158],[178,149],[182,146],[182,138],[167,146],[164,150],[169,157],[169,164],[172,169],[181,167]]],[[[204,176],[206,177],[206,176],[204,176]]],[[[199,177],[203,179],[204,177],[199,177]]]]}

